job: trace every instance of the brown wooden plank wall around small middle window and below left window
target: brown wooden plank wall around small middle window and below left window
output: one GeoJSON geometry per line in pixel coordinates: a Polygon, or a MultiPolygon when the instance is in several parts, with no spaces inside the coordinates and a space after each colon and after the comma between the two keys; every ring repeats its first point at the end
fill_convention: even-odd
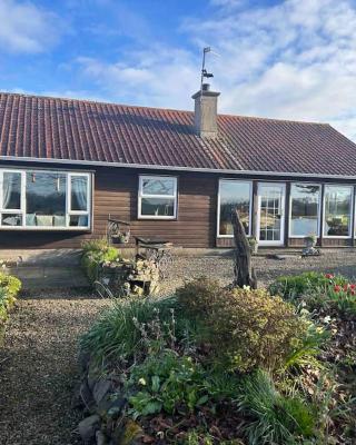
{"type": "Polygon", "coordinates": [[[162,237],[182,247],[215,246],[218,184],[215,176],[152,172],[178,178],[177,219],[159,220],[137,218],[140,174],[148,172],[119,168],[97,169],[91,233],[0,230],[0,248],[78,248],[85,239],[106,235],[109,215],[112,218],[129,220],[132,236],[162,237]]]}

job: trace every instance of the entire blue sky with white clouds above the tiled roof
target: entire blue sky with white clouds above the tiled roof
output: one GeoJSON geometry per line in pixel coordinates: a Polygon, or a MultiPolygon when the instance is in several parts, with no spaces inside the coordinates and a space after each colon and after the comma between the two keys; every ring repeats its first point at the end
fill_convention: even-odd
{"type": "Polygon", "coordinates": [[[356,140],[356,0],[0,0],[0,89],[191,109],[201,48],[221,112],[356,140]]]}

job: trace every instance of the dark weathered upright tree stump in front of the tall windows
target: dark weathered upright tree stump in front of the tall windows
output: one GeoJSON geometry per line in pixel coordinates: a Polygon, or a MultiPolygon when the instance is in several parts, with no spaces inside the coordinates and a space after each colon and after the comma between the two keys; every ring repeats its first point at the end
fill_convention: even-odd
{"type": "Polygon", "coordinates": [[[257,278],[251,266],[251,249],[245,234],[245,228],[238,217],[238,210],[233,211],[231,222],[234,228],[235,250],[234,250],[234,287],[249,286],[257,289],[257,278]]]}

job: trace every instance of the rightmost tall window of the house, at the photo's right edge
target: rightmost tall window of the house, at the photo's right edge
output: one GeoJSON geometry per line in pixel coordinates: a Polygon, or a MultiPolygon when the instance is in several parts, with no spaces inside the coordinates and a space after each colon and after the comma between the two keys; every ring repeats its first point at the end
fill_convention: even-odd
{"type": "Polygon", "coordinates": [[[325,186],[324,236],[350,236],[352,202],[352,187],[325,186]]]}

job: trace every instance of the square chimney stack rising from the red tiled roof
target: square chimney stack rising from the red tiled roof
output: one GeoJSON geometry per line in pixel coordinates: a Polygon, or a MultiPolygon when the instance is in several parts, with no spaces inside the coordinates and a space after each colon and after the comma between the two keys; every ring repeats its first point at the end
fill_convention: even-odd
{"type": "Polygon", "coordinates": [[[194,122],[197,135],[214,139],[218,135],[218,97],[219,92],[210,91],[209,83],[202,83],[201,90],[191,98],[195,100],[194,122]]]}

